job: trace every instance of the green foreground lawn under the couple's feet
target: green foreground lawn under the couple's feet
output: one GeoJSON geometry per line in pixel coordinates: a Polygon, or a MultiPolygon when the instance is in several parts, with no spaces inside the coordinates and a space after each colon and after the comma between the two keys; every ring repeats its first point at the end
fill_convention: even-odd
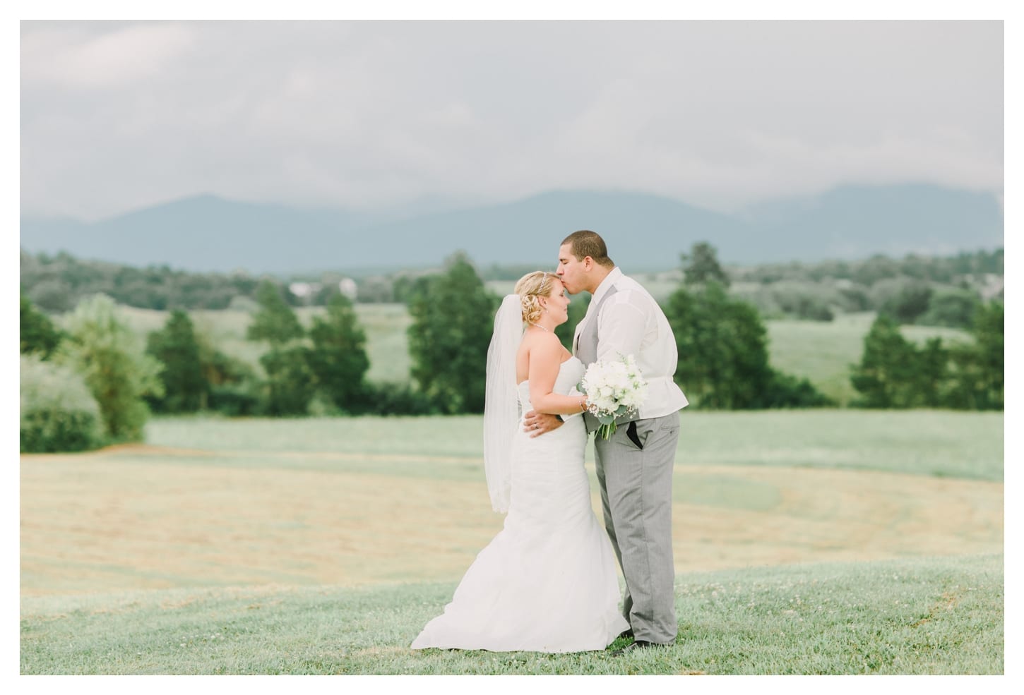
{"type": "Polygon", "coordinates": [[[241,587],[23,599],[20,672],[1004,672],[1000,555],[685,574],[676,581],[676,644],[618,658],[409,649],[454,588],[241,587]]]}

